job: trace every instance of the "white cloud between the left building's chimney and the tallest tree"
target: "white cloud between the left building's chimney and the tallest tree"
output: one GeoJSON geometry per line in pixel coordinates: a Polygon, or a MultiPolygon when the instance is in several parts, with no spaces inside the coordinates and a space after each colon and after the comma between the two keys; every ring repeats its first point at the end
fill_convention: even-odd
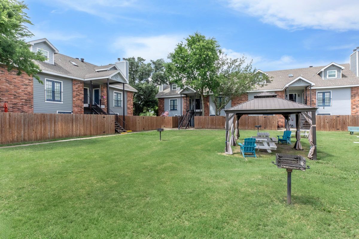
{"type": "Polygon", "coordinates": [[[159,35],[150,37],[119,37],[113,48],[123,52],[125,57],[143,57],[147,61],[159,58],[167,59],[183,35],[159,35]]]}

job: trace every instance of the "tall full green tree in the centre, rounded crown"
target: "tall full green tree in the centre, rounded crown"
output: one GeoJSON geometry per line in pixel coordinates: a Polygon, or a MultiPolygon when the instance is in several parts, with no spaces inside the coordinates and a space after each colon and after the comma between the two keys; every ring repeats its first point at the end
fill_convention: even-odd
{"type": "Polygon", "coordinates": [[[171,62],[167,65],[169,76],[177,85],[188,85],[201,95],[202,109],[204,96],[207,95],[215,82],[216,61],[221,53],[215,38],[206,38],[196,32],[189,35],[185,42],[177,44],[174,52],[168,55],[171,62]]]}

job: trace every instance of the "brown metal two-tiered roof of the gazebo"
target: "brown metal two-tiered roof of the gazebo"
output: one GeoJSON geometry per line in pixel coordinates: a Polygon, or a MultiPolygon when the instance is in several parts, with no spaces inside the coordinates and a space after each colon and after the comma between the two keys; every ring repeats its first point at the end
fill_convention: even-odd
{"type": "Polygon", "coordinates": [[[317,111],[317,107],[278,98],[276,94],[262,92],[253,99],[225,109],[225,113],[239,114],[294,114],[303,111],[317,111]]]}

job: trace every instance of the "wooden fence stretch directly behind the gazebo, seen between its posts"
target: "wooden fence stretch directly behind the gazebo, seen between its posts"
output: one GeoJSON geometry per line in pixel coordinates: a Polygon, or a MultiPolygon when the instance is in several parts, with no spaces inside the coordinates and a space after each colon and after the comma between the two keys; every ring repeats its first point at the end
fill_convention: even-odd
{"type": "MultiPolygon", "coordinates": [[[[277,116],[275,115],[243,115],[239,119],[239,129],[256,129],[255,125],[262,125],[261,129],[277,130],[277,116]]],[[[197,129],[224,129],[224,116],[195,116],[197,129]]]]}

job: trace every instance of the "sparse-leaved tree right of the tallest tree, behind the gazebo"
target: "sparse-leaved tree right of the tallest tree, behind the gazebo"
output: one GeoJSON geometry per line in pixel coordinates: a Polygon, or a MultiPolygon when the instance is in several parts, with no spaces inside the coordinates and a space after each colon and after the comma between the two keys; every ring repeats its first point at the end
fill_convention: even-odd
{"type": "Polygon", "coordinates": [[[234,97],[241,96],[256,86],[264,86],[270,81],[267,75],[256,71],[256,68],[252,67],[252,61],[246,63],[244,56],[231,59],[223,53],[220,54],[216,62],[215,82],[211,88],[216,115],[219,115],[221,109],[234,97]]]}

